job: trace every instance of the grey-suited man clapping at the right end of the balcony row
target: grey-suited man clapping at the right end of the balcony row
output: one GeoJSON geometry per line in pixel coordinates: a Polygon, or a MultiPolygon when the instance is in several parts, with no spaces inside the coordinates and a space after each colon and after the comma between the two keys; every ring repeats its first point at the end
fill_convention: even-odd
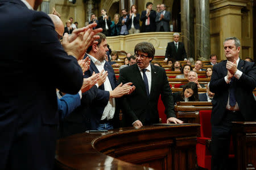
{"type": "Polygon", "coordinates": [[[166,5],[160,5],[160,13],[156,14],[156,32],[170,32],[171,14],[166,11],[166,5]]]}

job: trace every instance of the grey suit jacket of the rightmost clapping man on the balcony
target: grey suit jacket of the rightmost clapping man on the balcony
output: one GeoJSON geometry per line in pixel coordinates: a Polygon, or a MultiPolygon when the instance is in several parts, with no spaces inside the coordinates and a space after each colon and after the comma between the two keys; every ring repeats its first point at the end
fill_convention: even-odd
{"type": "Polygon", "coordinates": [[[164,32],[170,32],[170,20],[171,14],[166,11],[164,13],[164,18],[160,20],[161,13],[156,14],[155,22],[156,22],[156,32],[160,31],[160,27],[163,26],[164,32]]]}

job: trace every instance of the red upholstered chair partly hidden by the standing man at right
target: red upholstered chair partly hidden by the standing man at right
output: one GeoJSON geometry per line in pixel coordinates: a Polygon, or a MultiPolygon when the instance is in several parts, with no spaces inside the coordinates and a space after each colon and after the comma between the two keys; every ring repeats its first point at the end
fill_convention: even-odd
{"type": "MultiPolygon", "coordinates": [[[[212,137],[212,127],[210,124],[210,115],[212,110],[201,110],[200,115],[200,137],[197,138],[196,144],[196,155],[197,164],[200,167],[207,168],[210,170],[210,161],[212,156],[210,155],[209,148],[207,146],[208,140],[212,137]]],[[[230,142],[229,148],[229,159],[234,159],[233,142],[230,142]]]]}

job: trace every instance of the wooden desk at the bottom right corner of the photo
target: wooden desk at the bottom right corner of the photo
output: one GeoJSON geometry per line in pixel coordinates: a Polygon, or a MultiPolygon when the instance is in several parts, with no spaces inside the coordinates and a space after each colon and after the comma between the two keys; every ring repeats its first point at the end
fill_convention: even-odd
{"type": "Polygon", "coordinates": [[[256,122],[233,122],[237,170],[256,169],[256,122]]]}

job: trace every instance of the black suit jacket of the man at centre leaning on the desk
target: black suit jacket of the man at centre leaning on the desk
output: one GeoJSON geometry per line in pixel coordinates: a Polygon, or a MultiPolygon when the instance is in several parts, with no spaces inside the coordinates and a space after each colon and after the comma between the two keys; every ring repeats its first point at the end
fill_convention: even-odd
{"type": "Polygon", "coordinates": [[[174,99],[172,98],[166,71],[163,68],[155,67],[151,64],[150,97],[147,96],[137,64],[122,68],[120,72],[119,83],[133,82],[133,85],[136,87],[129,96],[121,98],[122,119],[125,126],[132,126],[132,123],[138,119],[143,125],[145,125],[146,120],[150,123],[159,123],[158,99],[160,94],[166,107],[165,113],[167,118],[176,117],[174,113],[174,99]]]}

